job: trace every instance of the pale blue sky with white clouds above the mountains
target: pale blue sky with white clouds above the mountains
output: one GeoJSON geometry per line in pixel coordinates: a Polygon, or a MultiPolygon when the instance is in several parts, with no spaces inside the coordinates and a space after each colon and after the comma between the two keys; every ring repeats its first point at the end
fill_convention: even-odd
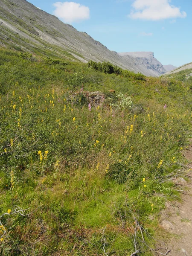
{"type": "Polygon", "coordinates": [[[116,52],[154,52],[163,65],[192,62],[192,0],[29,0],[116,52]]]}

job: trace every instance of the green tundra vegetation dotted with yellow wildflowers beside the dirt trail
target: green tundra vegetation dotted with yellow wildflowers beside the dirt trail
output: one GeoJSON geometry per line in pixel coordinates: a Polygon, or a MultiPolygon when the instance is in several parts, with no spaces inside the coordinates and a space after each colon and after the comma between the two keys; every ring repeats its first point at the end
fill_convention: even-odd
{"type": "Polygon", "coordinates": [[[101,66],[0,51],[0,255],[155,254],[192,81],[101,66]]]}

